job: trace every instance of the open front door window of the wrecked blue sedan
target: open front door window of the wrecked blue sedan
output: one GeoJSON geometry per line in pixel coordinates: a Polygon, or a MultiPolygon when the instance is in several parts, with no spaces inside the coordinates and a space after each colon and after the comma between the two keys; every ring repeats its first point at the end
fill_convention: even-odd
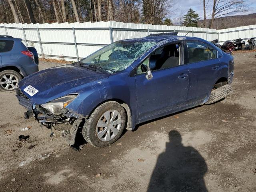
{"type": "MultiPolygon", "coordinates": [[[[151,71],[172,68],[181,65],[180,44],[170,44],[164,46],[150,55],[143,64],[149,66],[151,71]]],[[[137,68],[137,74],[143,73],[141,65],[137,68]]]]}

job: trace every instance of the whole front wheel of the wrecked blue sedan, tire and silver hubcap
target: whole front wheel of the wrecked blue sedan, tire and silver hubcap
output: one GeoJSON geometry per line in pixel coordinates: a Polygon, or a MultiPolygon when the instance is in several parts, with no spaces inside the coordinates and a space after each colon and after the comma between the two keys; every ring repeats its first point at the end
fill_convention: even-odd
{"type": "Polygon", "coordinates": [[[98,106],[83,127],[84,139],[94,147],[102,148],[121,136],[126,124],[124,108],[115,101],[98,106]]]}

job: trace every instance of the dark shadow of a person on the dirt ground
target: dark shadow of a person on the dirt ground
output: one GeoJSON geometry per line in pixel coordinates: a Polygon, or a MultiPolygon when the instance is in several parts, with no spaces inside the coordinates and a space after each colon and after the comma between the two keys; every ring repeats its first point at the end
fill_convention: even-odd
{"type": "Polygon", "coordinates": [[[178,131],[170,131],[169,139],[165,152],[158,156],[148,192],[207,192],[204,158],[195,148],[183,146],[178,131]]]}

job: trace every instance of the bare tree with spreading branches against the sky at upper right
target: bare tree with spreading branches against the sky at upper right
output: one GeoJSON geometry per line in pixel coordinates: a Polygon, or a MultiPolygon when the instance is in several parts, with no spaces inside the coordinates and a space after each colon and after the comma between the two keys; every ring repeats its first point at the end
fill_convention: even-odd
{"type": "Polygon", "coordinates": [[[213,27],[215,18],[234,12],[244,12],[246,6],[244,0],[213,0],[210,28],[213,27]]]}

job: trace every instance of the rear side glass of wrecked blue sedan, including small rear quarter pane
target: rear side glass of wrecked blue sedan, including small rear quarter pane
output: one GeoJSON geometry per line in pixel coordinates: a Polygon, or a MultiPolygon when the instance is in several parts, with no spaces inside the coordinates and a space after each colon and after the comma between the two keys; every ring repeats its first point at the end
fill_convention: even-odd
{"type": "Polygon", "coordinates": [[[187,41],[189,63],[217,58],[217,50],[198,41],[187,41]]]}

